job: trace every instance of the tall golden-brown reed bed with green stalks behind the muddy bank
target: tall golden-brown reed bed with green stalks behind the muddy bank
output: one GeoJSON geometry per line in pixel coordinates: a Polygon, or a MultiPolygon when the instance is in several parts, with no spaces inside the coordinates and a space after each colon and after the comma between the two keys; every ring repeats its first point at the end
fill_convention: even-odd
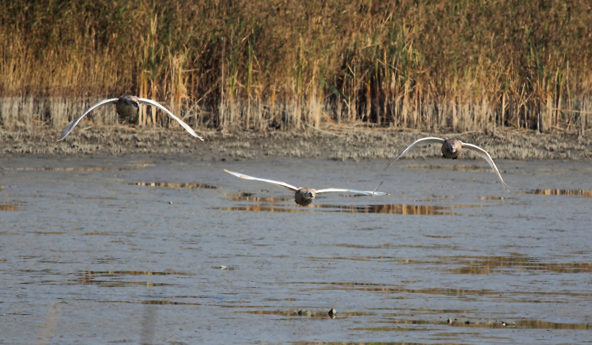
{"type": "MultiPolygon", "coordinates": [[[[2,1],[0,125],[63,127],[130,93],[195,127],[581,134],[590,22],[587,0],[2,1]]],[[[139,125],[178,126],[149,108],[139,125]]]]}

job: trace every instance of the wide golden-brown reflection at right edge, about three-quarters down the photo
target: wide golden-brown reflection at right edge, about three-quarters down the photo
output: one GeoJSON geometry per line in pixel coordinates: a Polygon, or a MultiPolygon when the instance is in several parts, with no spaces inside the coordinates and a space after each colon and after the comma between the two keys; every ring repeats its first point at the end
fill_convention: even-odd
{"type": "MultiPolygon", "coordinates": [[[[473,257],[471,259],[459,258],[456,263],[465,265],[461,268],[449,269],[449,272],[458,274],[490,274],[508,272],[510,267],[516,270],[535,270],[556,273],[588,273],[592,272],[592,263],[542,263],[540,259],[526,256],[491,256],[473,257]]],[[[454,260],[449,263],[455,263],[454,260]]]]}

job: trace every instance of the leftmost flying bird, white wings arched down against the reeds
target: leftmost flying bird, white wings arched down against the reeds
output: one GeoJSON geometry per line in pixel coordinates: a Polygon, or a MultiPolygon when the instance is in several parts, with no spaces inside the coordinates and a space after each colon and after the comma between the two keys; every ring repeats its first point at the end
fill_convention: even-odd
{"type": "Polygon", "coordinates": [[[166,109],[165,107],[160,105],[159,102],[153,101],[152,99],[137,98],[136,96],[131,96],[131,95],[123,95],[120,98],[103,99],[101,102],[98,102],[97,104],[93,105],[92,107],[86,109],[86,111],[82,115],[80,115],[80,117],[78,117],[76,120],[70,122],[70,124],[67,125],[66,130],[62,134],[62,137],[60,137],[57,141],[62,140],[68,134],[70,134],[70,132],[72,131],[72,129],[74,127],[76,127],[78,122],[80,122],[80,120],[82,120],[82,118],[85,117],[86,114],[91,112],[92,109],[101,107],[101,105],[104,105],[107,103],[115,103],[115,108],[117,109],[117,114],[120,114],[121,116],[124,116],[124,117],[133,117],[134,115],[137,115],[139,108],[140,108],[140,103],[149,104],[149,105],[152,105],[153,107],[160,108],[163,111],[165,111],[166,114],[169,115],[169,117],[177,120],[177,122],[179,122],[179,124],[181,124],[183,126],[183,128],[185,128],[185,130],[187,130],[189,132],[189,134],[191,134],[194,137],[199,138],[201,141],[204,141],[204,138],[198,136],[197,133],[195,133],[195,131],[192,130],[192,128],[189,127],[188,124],[186,124],[185,122],[181,121],[180,118],[173,115],[173,113],[170,112],[169,109],[166,109]]]}

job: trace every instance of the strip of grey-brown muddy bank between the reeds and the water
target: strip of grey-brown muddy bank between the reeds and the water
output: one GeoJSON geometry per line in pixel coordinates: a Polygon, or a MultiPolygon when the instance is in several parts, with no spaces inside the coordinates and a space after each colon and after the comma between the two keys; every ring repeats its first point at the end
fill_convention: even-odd
{"type": "MultiPolygon", "coordinates": [[[[489,151],[493,159],[590,159],[592,133],[584,136],[537,134],[533,131],[429,133],[391,129],[333,128],[301,133],[231,133],[197,130],[205,141],[180,130],[136,130],[76,128],[57,143],[60,131],[0,130],[0,151],[4,154],[195,154],[202,160],[312,157],[332,160],[394,159],[417,138],[453,137],[489,151]]],[[[417,147],[405,158],[438,157],[439,148],[417,147]]],[[[468,158],[474,154],[466,155],[468,158]]]]}

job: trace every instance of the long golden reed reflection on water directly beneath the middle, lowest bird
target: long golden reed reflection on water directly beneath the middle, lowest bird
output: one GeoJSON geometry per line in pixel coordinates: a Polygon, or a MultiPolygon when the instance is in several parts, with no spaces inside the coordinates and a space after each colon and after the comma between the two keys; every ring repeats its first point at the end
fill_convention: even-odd
{"type": "MultiPolygon", "coordinates": [[[[292,199],[278,199],[278,198],[257,198],[254,196],[234,196],[232,200],[248,200],[248,201],[293,201],[292,199]]],[[[459,215],[456,212],[449,212],[445,210],[454,208],[466,207],[488,207],[487,205],[452,205],[452,206],[432,206],[432,205],[324,205],[312,204],[304,207],[288,207],[285,204],[271,204],[271,205],[244,205],[235,207],[224,207],[220,209],[227,209],[229,211],[252,211],[252,212],[305,212],[311,209],[319,209],[323,212],[347,212],[347,213],[386,213],[386,214],[405,214],[405,215],[459,215]]]]}

